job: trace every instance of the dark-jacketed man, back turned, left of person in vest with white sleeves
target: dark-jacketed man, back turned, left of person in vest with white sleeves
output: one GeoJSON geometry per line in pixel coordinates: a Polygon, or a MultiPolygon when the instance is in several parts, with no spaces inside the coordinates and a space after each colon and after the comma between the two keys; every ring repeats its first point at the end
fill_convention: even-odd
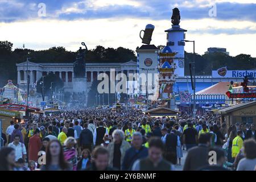
{"type": "Polygon", "coordinates": [[[79,136],[79,144],[81,150],[88,148],[90,151],[92,151],[93,134],[92,131],[90,131],[87,127],[88,124],[84,123],[84,130],[81,131],[81,134],[79,136]]]}

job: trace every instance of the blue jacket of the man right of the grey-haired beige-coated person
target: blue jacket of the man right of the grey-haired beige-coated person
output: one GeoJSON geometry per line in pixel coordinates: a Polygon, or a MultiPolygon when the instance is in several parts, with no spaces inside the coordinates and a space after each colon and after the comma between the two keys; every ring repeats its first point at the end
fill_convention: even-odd
{"type": "Polygon", "coordinates": [[[134,147],[130,147],[125,152],[125,158],[123,158],[122,170],[130,171],[133,167],[133,163],[138,159],[143,159],[148,156],[148,150],[146,147],[142,146],[141,150],[137,151],[134,147]]]}

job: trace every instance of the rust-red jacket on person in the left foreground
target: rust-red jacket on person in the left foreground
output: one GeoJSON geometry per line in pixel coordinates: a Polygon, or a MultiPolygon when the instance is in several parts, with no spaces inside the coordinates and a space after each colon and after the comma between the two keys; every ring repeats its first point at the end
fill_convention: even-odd
{"type": "Polygon", "coordinates": [[[42,147],[41,138],[34,135],[30,137],[30,141],[28,142],[28,160],[34,160],[38,162],[38,152],[42,147]]]}

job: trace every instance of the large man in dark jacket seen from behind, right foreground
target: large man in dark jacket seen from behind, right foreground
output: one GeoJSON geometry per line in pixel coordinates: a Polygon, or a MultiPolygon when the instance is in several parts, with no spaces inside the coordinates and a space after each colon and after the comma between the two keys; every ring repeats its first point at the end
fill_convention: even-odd
{"type": "Polygon", "coordinates": [[[199,145],[188,150],[183,171],[195,171],[209,164],[208,157],[211,139],[209,133],[200,134],[199,145]]]}

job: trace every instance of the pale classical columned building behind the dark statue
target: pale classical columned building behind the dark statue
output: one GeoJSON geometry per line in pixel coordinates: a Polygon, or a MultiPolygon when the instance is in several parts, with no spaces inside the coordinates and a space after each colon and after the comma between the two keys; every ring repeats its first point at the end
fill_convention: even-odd
{"type": "MultiPolygon", "coordinates": [[[[26,61],[24,63],[16,64],[18,72],[18,84],[20,88],[27,85],[27,74],[30,75],[30,87],[33,88],[36,82],[42,77],[53,72],[58,75],[64,82],[65,92],[73,92],[73,63],[32,63],[26,61]]],[[[110,69],[114,69],[117,73],[137,73],[137,63],[135,61],[127,61],[126,63],[86,63],[86,80],[87,89],[92,86],[92,82],[97,80],[100,73],[110,75],[110,69]]]]}

